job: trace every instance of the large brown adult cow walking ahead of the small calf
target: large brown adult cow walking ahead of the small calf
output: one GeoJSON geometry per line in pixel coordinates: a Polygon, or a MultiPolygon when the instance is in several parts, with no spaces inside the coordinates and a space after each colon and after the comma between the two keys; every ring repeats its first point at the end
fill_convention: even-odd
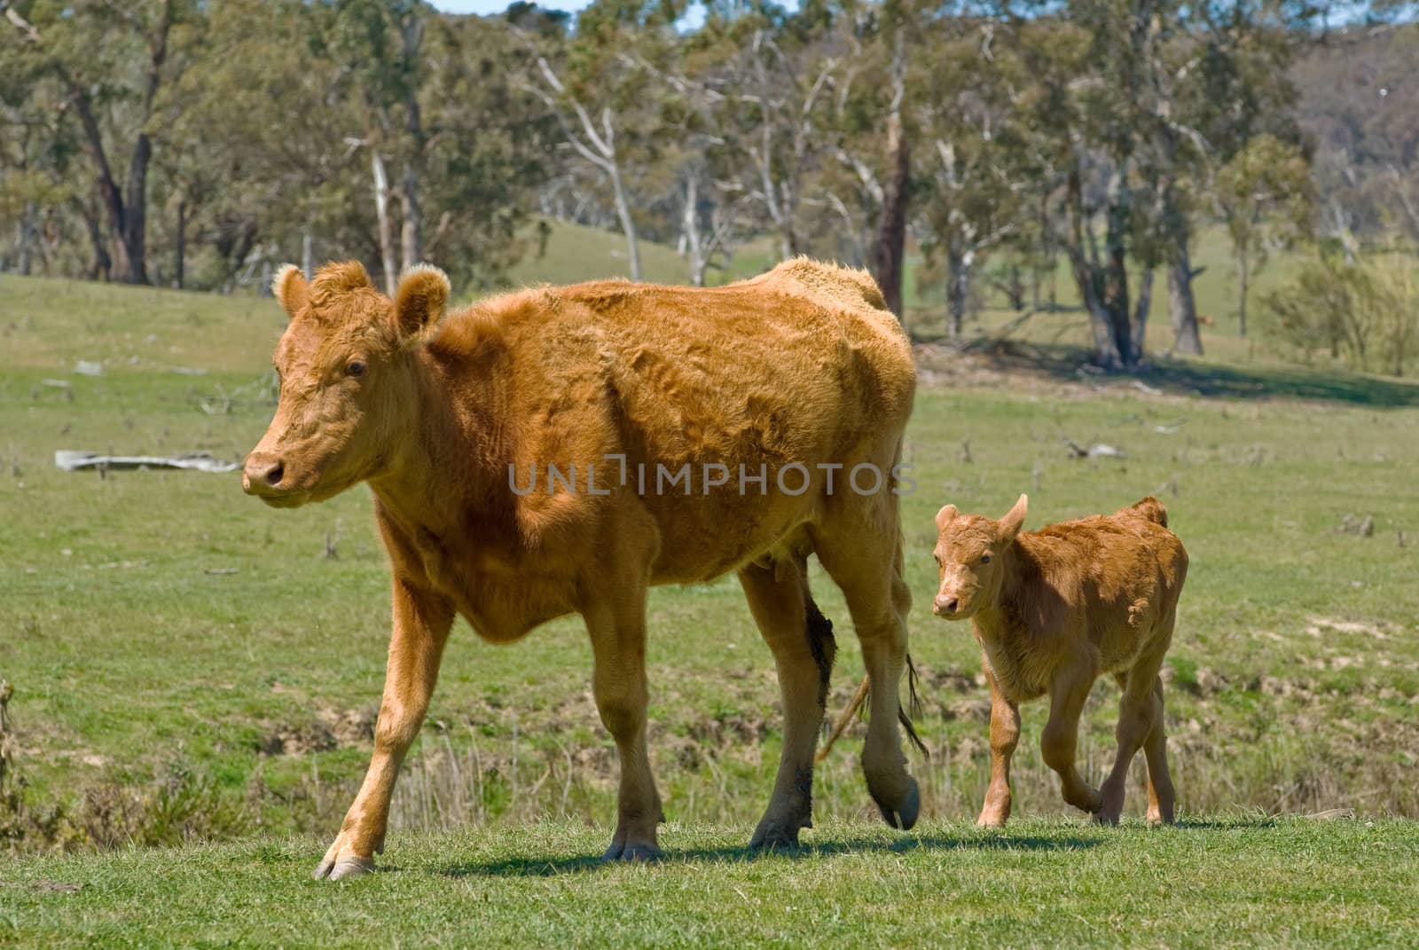
{"type": "Polygon", "coordinates": [[[406,273],[394,300],[358,263],[309,284],[287,267],[274,290],[291,317],[281,398],[243,486],[294,507],[368,481],[393,575],[375,754],[316,876],[372,868],[455,615],[492,642],[585,618],[622,764],[606,858],[656,856],[646,589],[729,571],[773,652],[786,720],[752,845],[795,843],[836,650],[807,586],[813,552],[884,684],[868,791],[888,824],[915,822],[897,730],[911,602],[897,469],[915,371],[870,277],[799,258],[722,288],[590,283],[446,318],[448,280],[430,267],[406,273]]]}

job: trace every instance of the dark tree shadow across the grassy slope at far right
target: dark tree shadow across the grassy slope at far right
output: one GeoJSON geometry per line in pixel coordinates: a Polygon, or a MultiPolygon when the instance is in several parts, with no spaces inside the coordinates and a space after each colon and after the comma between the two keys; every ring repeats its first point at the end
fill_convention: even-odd
{"type": "Polygon", "coordinates": [[[1087,372],[1088,351],[1050,344],[1003,342],[976,351],[996,369],[1034,372],[1100,388],[1141,379],[1178,395],[1213,399],[1315,399],[1357,406],[1419,406],[1419,385],[1304,366],[1236,366],[1193,359],[1155,359],[1132,376],[1087,372]]]}

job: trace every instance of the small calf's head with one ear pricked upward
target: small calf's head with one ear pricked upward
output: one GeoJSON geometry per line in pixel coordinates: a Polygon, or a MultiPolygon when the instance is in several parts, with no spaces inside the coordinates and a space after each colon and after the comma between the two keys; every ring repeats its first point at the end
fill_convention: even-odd
{"type": "Polygon", "coordinates": [[[1006,551],[1025,524],[1030,500],[1020,496],[1015,507],[993,521],[979,514],[959,514],[948,504],[937,513],[937,567],[941,586],[931,611],[948,621],[964,621],[1000,599],[1006,551]]]}

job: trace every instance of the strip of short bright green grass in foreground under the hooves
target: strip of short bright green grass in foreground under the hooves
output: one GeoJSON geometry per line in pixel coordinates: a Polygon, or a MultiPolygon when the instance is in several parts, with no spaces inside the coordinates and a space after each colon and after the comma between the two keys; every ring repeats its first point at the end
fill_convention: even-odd
{"type": "Polygon", "coordinates": [[[410,836],[386,873],[308,878],[308,841],[33,859],[0,882],[0,946],[1403,947],[1419,825],[1222,821],[1165,831],[833,824],[789,853],[666,831],[602,866],[604,829],[410,836]]]}

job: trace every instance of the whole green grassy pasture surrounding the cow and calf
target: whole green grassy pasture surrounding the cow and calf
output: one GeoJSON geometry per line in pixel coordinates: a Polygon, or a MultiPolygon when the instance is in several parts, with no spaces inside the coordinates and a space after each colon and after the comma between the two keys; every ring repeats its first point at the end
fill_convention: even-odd
{"type": "MultiPolygon", "coordinates": [[[[1081,327],[1034,321],[1037,342],[1081,327]]],[[[668,862],[587,861],[616,771],[579,621],[508,648],[460,623],[396,792],[383,866],[402,870],[331,900],[307,875],[368,760],[389,633],[368,493],[271,511],[237,473],[53,464],[58,449],[240,459],[270,419],[282,322],[270,300],[0,283],[0,675],[24,782],[0,849],[81,852],[0,858],[0,943],[431,943],[474,923],[492,943],[1202,946],[1237,926],[1290,946],[1412,939],[1419,388],[1260,361],[1162,362],[1139,388],[1078,378],[1059,348],[1022,368],[921,346],[904,500],[932,751],[911,763],[917,829],[878,826],[857,724],[819,770],[807,848],[738,851],[772,785],[778,689],[722,578],[650,604],[668,862]],[[1125,456],[1077,459],[1066,442],[1125,456]],[[929,613],[932,514],[999,515],[1020,491],[1027,528],[1156,494],[1188,545],[1165,667],[1181,828],[1142,831],[1137,781],[1122,829],[1066,815],[1039,704],[1022,707],[1017,818],[1003,834],[966,821],[989,703],[969,630],[929,613]],[[1341,530],[1366,517],[1368,534],[1341,530]]],[[[815,594],[839,630],[836,713],[861,660],[822,574],[815,594]]],[[[1091,781],[1111,763],[1115,701],[1100,684],[1086,711],[1091,781]]]]}

